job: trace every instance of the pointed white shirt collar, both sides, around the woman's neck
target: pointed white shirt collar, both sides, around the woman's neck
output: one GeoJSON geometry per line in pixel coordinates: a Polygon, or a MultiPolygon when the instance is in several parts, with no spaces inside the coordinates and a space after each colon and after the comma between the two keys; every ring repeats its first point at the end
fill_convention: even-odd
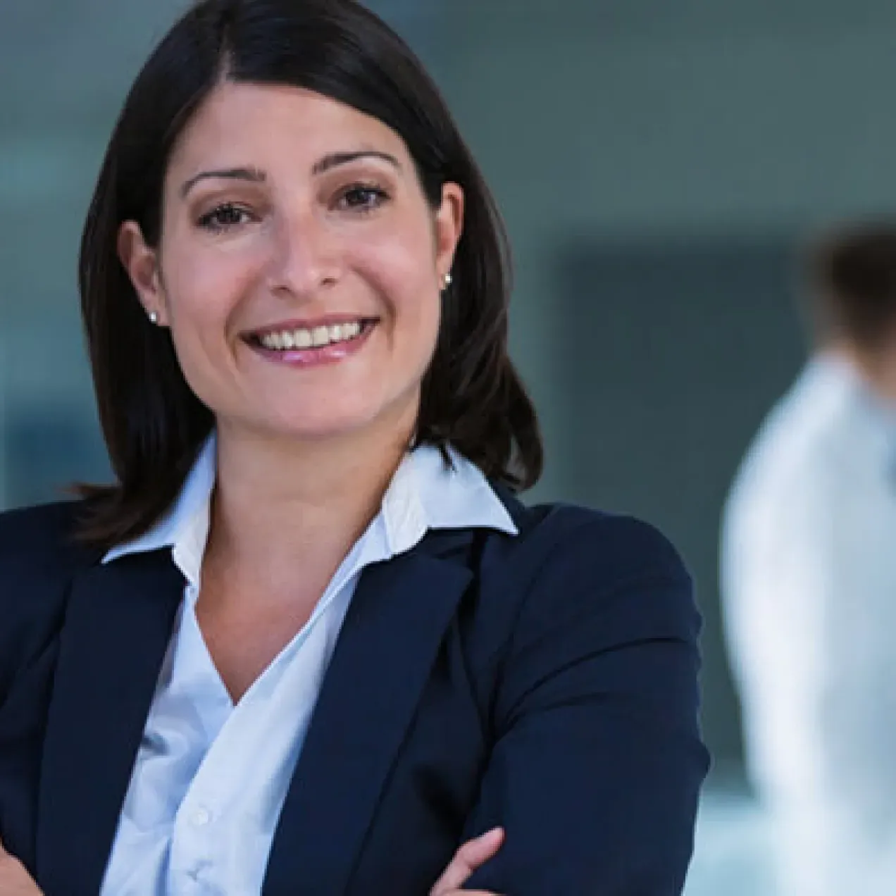
{"type": "MultiPolygon", "coordinates": [[[[373,550],[373,554],[364,552],[369,562],[409,551],[430,529],[517,533],[510,514],[481,470],[451,448],[447,453],[450,463],[433,445],[420,445],[405,455],[383,495],[380,513],[364,536],[373,550]],[[376,541],[380,544],[374,547],[376,541]]],[[[211,435],[170,511],[143,535],[113,547],[102,562],[171,547],[187,580],[197,583],[208,538],[216,471],[216,440],[211,435]]]]}

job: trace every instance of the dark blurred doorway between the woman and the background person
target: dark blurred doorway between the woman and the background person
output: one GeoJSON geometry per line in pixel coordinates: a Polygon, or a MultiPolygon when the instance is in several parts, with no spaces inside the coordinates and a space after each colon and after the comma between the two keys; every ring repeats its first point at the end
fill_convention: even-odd
{"type": "Polygon", "coordinates": [[[664,530],[705,617],[704,730],[741,758],[719,619],[719,515],[747,444],[805,355],[795,239],[578,246],[560,264],[564,494],[664,530]]]}

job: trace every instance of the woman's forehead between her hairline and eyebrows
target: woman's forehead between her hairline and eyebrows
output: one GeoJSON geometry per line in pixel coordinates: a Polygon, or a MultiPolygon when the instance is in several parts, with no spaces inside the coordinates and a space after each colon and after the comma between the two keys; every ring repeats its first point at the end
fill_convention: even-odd
{"type": "Polygon", "coordinates": [[[185,126],[168,168],[211,159],[263,167],[279,158],[310,166],[327,153],[359,148],[408,155],[392,128],[336,99],[299,87],[225,82],[185,126]]]}

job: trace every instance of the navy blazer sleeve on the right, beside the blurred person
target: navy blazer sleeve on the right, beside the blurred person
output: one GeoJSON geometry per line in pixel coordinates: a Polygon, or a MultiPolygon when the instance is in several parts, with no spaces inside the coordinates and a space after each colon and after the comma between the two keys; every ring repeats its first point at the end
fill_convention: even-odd
{"type": "Polygon", "coordinates": [[[512,896],[677,896],[708,756],[700,621],[659,532],[590,516],[557,538],[522,605],[495,746],[466,836],[500,824],[465,887],[512,896]]]}

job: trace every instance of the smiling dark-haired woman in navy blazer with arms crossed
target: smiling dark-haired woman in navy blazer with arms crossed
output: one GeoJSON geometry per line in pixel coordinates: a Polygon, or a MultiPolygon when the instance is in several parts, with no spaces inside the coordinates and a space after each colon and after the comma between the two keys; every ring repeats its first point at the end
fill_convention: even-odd
{"type": "Polygon", "coordinates": [[[0,896],[680,892],[691,584],[513,496],[504,234],[401,40],[194,6],[81,290],[117,481],[0,518],[0,896]]]}

